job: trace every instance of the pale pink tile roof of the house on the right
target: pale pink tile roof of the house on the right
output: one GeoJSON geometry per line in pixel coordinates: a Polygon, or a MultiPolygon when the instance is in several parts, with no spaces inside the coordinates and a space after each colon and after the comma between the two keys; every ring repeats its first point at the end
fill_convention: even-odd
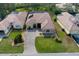
{"type": "Polygon", "coordinates": [[[75,28],[78,28],[78,26],[76,26],[75,24],[76,23],[75,17],[69,14],[68,12],[63,12],[62,14],[58,15],[57,18],[60,21],[60,23],[69,31],[74,25],[75,25],[75,28]]]}

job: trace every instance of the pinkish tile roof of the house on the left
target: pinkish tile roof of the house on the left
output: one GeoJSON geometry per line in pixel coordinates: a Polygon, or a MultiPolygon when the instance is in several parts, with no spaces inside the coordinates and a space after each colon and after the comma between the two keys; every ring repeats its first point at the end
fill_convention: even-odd
{"type": "Polygon", "coordinates": [[[25,22],[27,12],[11,13],[5,17],[3,21],[0,22],[0,30],[7,28],[10,23],[16,22],[21,23],[22,25],[25,22]]]}

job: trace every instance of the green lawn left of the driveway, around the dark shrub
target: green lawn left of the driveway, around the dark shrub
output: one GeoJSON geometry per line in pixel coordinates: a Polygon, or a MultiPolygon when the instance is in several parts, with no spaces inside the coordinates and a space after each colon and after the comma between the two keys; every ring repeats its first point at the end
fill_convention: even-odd
{"type": "Polygon", "coordinates": [[[22,53],[24,51],[23,44],[12,46],[12,40],[20,33],[21,31],[12,31],[8,38],[2,39],[0,42],[0,53],[22,53]]]}

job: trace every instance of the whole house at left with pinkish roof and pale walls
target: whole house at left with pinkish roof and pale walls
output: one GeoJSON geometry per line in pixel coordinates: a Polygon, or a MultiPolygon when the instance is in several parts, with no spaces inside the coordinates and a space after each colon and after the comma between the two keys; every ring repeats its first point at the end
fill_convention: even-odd
{"type": "Polygon", "coordinates": [[[0,37],[5,37],[11,28],[22,29],[26,20],[27,12],[12,12],[0,22],[0,37]]]}

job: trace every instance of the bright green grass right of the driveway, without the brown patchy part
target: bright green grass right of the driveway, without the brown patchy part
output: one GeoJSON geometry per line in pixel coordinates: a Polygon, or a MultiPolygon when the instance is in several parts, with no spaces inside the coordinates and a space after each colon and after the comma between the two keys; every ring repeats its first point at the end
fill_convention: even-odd
{"type": "Polygon", "coordinates": [[[62,43],[58,43],[54,38],[37,37],[35,46],[40,53],[64,52],[62,43]]]}

